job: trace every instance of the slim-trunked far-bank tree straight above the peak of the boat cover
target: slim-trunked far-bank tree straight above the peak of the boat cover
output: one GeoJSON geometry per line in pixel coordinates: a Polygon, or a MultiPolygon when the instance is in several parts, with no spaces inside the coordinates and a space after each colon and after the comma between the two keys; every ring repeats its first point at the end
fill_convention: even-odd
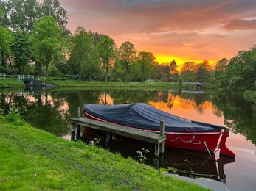
{"type": "Polygon", "coordinates": [[[127,82],[129,65],[131,65],[136,59],[136,49],[134,45],[128,41],[122,43],[119,48],[120,50],[120,61],[124,67],[125,71],[125,82],[127,82]]]}

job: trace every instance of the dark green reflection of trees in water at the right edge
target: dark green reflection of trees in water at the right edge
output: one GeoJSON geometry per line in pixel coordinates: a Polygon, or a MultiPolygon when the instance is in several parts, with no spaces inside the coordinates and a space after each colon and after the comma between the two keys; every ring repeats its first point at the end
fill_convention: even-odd
{"type": "Polygon", "coordinates": [[[256,143],[255,104],[246,101],[238,92],[215,93],[212,102],[223,111],[226,126],[256,143]]]}

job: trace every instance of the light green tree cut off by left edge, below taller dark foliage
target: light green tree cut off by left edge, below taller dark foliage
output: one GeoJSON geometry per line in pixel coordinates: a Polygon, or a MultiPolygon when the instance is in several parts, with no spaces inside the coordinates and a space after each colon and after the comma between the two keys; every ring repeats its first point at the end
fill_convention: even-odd
{"type": "Polygon", "coordinates": [[[0,26],[0,72],[7,71],[7,60],[10,58],[10,45],[13,42],[13,35],[10,30],[0,26]]]}

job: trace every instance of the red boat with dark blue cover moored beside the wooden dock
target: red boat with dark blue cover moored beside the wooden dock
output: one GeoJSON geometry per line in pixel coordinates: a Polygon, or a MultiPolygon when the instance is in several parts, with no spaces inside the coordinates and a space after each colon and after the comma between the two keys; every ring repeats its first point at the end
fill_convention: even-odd
{"type": "Polygon", "coordinates": [[[153,133],[159,133],[160,121],[164,121],[166,147],[207,151],[210,155],[219,151],[221,156],[235,158],[235,154],[226,147],[229,129],[224,126],[181,118],[145,103],[84,104],[83,112],[92,120],[153,133]]]}

